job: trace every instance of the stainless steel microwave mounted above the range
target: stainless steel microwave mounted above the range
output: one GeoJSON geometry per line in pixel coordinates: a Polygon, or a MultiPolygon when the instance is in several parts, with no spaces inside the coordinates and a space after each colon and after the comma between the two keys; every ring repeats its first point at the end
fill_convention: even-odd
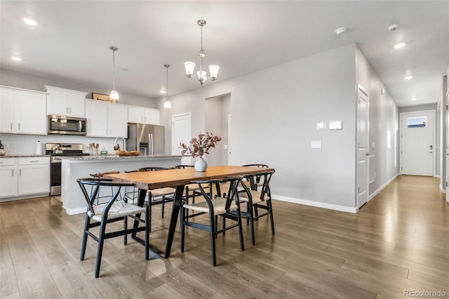
{"type": "Polygon", "coordinates": [[[87,119],[48,115],[48,134],[86,135],[87,119]]]}

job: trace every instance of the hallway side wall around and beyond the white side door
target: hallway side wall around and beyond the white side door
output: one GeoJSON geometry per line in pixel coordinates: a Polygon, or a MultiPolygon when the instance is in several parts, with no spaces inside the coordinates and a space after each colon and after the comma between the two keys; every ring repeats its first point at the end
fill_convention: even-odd
{"type": "Polygon", "coordinates": [[[375,164],[370,168],[374,167],[376,173],[369,186],[371,197],[399,173],[398,107],[386,88],[384,95],[380,94],[384,84],[359,48],[356,48],[356,82],[370,94],[369,152],[375,155],[375,164]]]}

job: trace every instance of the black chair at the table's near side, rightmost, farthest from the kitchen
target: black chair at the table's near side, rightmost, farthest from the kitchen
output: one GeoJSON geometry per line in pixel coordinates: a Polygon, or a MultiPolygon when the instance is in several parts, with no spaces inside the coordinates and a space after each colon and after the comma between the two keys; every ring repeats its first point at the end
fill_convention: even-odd
{"type": "Polygon", "coordinates": [[[240,202],[246,203],[246,211],[241,212],[241,215],[247,219],[247,225],[250,225],[253,245],[255,244],[254,222],[259,220],[259,218],[269,215],[272,234],[274,234],[272,192],[269,188],[269,181],[273,173],[273,171],[269,171],[255,175],[244,175],[246,181],[242,180],[239,188],[240,202]],[[246,182],[250,182],[249,187],[246,182]],[[260,191],[257,191],[259,187],[262,188],[260,191]],[[259,208],[266,212],[259,214],[259,208]]]}

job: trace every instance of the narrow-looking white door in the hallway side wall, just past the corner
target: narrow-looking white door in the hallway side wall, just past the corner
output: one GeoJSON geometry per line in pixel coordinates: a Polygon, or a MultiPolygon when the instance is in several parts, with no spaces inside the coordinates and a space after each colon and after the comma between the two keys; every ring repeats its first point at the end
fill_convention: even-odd
{"type": "Polygon", "coordinates": [[[368,201],[368,100],[361,85],[357,88],[357,208],[368,201]]]}

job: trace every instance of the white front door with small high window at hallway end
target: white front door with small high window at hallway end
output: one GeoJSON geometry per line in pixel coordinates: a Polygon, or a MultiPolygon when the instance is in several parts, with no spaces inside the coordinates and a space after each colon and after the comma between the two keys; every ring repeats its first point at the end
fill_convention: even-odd
{"type": "Polygon", "coordinates": [[[401,174],[434,175],[435,111],[401,113],[401,174]]]}

